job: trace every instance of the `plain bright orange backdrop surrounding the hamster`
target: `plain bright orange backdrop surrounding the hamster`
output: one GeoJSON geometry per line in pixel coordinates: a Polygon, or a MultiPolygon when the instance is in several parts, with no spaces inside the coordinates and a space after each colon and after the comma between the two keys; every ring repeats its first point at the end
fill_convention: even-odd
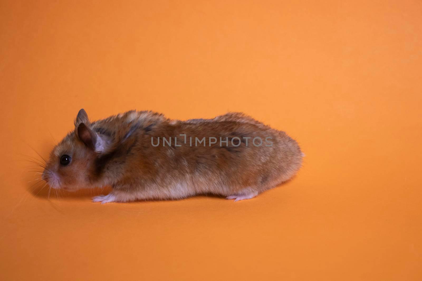
{"type": "Polygon", "coordinates": [[[2,1],[3,280],[421,280],[421,1],[2,1]],[[31,192],[90,118],[242,111],[306,153],[252,200],[31,192]]]}

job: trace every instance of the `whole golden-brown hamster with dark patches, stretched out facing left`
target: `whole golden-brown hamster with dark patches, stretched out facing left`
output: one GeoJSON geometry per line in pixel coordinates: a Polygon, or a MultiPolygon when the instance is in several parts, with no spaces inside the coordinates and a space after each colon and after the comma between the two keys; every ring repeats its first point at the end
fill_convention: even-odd
{"type": "Polygon", "coordinates": [[[181,199],[199,194],[250,199],[292,178],[298,143],[243,113],[171,120],[128,111],[90,122],[81,109],[51,151],[42,179],[51,188],[111,186],[93,202],[181,199]]]}

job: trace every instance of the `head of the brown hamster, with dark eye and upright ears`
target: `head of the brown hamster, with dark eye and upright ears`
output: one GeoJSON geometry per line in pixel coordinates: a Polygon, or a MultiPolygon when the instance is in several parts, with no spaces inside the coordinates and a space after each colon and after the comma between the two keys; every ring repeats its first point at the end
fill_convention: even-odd
{"type": "Polygon", "coordinates": [[[75,191],[98,185],[95,161],[100,136],[92,131],[85,110],[79,110],[75,130],[65,136],[51,151],[42,179],[51,188],[75,191]]]}

